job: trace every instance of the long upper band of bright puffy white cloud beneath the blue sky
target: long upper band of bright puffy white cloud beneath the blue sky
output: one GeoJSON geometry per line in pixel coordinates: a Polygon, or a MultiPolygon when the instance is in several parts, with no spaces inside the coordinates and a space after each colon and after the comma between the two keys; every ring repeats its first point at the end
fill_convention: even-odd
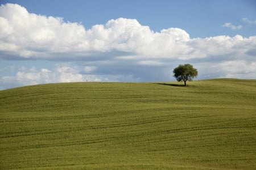
{"type": "MultiPolygon", "coordinates": [[[[136,56],[138,63],[144,64],[144,60],[152,58],[202,58],[223,47],[229,53],[233,51],[232,43],[236,43],[232,39],[237,39],[237,36],[191,39],[180,28],[154,32],[136,19],[125,18],[85,30],[83,25],[65,23],[61,18],[30,14],[19,5],[2,5],[0,11],[0,53],[5,59],[113,61],[136,56]]],[[[230,23],[224,25],[241,28],[230,23]]],[[[246,41],[241,36],[240,40],[246,41]]]]}

